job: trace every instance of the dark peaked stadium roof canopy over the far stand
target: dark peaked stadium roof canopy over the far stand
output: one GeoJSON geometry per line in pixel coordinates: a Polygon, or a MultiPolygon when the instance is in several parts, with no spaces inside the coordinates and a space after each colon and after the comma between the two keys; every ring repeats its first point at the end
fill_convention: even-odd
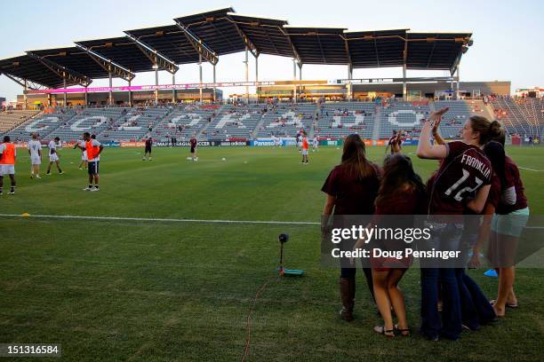
{"type": "Polygon", "coordinates": [[[292,27],[287,20],[238,14],[232,7],[199,12],[171,25],[126,30],[126,36],[76,42],[76,47],[28,51],[0,60],[2,73],[16,82],[59,87],[89,84],[93,78],[164,69],[251,51],[296,59],[303,64],[353,68],[448,69],[451,74],[471,33],[412,33],[408,29],[347,31],[346,28],[292,27]],[[19,81],[18,81],[19,79],[19,81]]]}

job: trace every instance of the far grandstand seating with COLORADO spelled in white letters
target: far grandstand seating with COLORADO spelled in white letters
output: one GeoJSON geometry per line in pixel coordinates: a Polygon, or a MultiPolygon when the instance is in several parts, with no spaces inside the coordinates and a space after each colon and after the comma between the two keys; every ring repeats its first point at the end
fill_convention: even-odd
{"type": "MultiPolygon", "coordinates": [[[[496,98],[489,106],[480,99],[405,102],[316,103],[276,102],[275,104],[177,105],[148,107],[54,108],[52,113],[14,111],[6,119],[22,122],[5,134],[15,141],[28,140],[32,132],[44,140],[81,138],[84,131],[95,133],[101,141],[136,141],[146,137],[165,141],[250,140],[254,138],[294,137],[300,129],[318,138],[344,138],[357,133],[364,139],[387,139],[392,130],[404,130],[418,137],[420,120],[435,109],[450,111],[440,125],[446,139],[458,138],[471,115],[497,118],[509,135],[540,137],[544,128],[544,101],[540,98],[496,98]],[[494,110],[494,114],[492,114],[494,110]]],[[[2,118],[0,118],[1,120],[2,118]]],[[[2,122],[7,129],[8,122],[2,122]]],[[[13,121],[15,122],[15,121],[13,121]]],[[[9,123],[12,124],[12,123],[9,123]]]]}

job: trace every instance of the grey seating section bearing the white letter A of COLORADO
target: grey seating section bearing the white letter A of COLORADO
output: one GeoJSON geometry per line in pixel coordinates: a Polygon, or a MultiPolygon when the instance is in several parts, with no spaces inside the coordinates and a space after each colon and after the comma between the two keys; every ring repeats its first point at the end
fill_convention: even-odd
{"type": "Polygon", "coordinates": [[[295,137],[300,129],[308,133],[313,128],[315,103],[277,103],[263,115],[257,137],[295,137]]]}

